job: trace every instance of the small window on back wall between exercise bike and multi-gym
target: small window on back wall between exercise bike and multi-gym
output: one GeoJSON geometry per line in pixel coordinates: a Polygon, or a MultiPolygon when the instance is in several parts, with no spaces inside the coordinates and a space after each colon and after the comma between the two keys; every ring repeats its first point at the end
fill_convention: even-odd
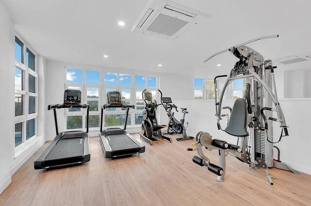
{"type": "Polygon", "coordinates": [[[194,99],[215,99],[214,81],[212,79],[194,78],[194,99]]]}

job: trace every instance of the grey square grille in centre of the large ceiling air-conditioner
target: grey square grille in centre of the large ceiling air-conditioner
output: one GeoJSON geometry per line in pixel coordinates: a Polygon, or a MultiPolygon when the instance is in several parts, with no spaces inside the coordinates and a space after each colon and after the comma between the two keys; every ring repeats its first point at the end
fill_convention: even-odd
{"type": "Polygon", "coordinates": [[[188,23],[188,21],[179,18],[159,14],[146,30],[156,34],[173,36],[188,23]]]}

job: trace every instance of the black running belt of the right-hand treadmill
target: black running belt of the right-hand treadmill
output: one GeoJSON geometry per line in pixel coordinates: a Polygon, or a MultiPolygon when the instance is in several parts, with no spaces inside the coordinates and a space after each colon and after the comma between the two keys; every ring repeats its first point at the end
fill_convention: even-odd
{"type": "Polygon", "coordinates": [[[140,147],[125,134],[106,135],[112,151],[139,149],[140,147]]]}

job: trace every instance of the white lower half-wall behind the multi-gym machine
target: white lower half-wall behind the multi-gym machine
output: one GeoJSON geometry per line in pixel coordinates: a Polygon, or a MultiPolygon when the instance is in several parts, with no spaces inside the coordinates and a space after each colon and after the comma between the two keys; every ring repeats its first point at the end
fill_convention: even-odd
{"type": "MultiPolygon", "coordinates": [[[[281,151],[281,161],[288,163],[294,169],[311,174],[311,159],[309,158],[309,145],[311,144],[310,99],[281,99],[283,113],[289,127],[289,137],[283,137],[282,141],[276,144],[281,151]],[[293,109],[294,108],[294,109],[293,109]]],[[[223,105],[232,106],[234,101],[224,101],[223,105]]],[[[236,144],[237,137],[227,135],[217,129],[215,114],[215,103],[213,101],[181,101],[176,105],[187,107],[189,114],[186,121],[189,121],[187,133],[195,137],[197,132],[205,131],[214,138],[224,139],[229,143],[236,144]]],[[[222,122],[223,129],[226,120],[222,122]]],[[[280,135],[279,125],[274,125],[274,140],[280,135]]],[[[189,146],[191,142],[189,142],[189,146]]],[[[275,152],[276,157],[276,152],[275,152]]]]}

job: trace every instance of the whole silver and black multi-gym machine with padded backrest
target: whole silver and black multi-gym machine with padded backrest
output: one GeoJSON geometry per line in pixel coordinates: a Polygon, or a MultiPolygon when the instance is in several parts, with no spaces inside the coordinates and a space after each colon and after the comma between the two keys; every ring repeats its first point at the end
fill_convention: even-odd
{"type": "Polygon", "coordinates": [[[221,139],[214,139],[207,132],[199,132],[196,135],[196,142],[192,145],[194,148],[186,150],[196,150],[200,157],[194,156],[193,162],[200,166],[207,166],[207,169],[217,174],[216,181],[224,181],[225,177],[225,157],[230,154],[240,161],[249,164],[256,169],[264,169],[268,181],[273,185],[269,168],[275,167],[282,170],[292,171],[299,174],[285,163],[279,160],[279,149],[274,146],[282,137],[288,136],[288,126],[285,121],[280,103],[277,99],[276,82],[274,69],[271,60],[264,61],[259,52],[246,46],[247,44],[261,39],[276,38],[278,35],[259,37],[227,50],[220,51],[208,57],[207,62],[212,57],[230,51],[239,61],[234,65],[229,76],[221,75],[214,79],[215,86],[215,107],[217,117],[217,126],[221,127],[223,117],[228,117],[229,121],[223,130],[231,136],[238,137],[237,145],[229,144],[221,139]],[[224,88],[217,101],[217,78],[227,77],[224,88]],[[243,98],[236,99],[232,108],[223,106],[223,97],[225,89],[236,79],[245,79],[245,91],[243,98]],[[229,114],[222,114],[224,109],[230,111],[229,114]],[[276,116],[273,116],[276,112],[276,116]],[[272,122],[280,124],[281,135],[277,141],[273,140],[272,122]],[[208,157],[203,153],[203,148],[209,151],[219,150],[219,166],[210,163],[208,157]],[[273,150],[278,151],[278,158],[273,158],[273,150]]]}

